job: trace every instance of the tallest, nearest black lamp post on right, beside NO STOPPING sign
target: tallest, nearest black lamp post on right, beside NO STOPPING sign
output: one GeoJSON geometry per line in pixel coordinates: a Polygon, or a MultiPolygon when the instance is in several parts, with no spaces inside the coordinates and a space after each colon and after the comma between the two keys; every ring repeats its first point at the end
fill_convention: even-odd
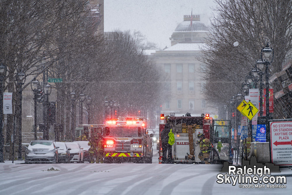
{"type": "MultiPolygon", "coordinates": [[[[272,63],[274,58],[274,49],[269,47],[269,42],[267,43],[266,47],[263,48],[260,52],[260,58],[263,61],[264,65],[266,66],[265,75],[266,75],[266,140],[270,142],[270,105],[269,105],[269,65],[272,63]]],[[[271,146],[269,144],[269,146],[271,146]]],[[[270,150],[271,151],[271,150],[270,150]]]]}

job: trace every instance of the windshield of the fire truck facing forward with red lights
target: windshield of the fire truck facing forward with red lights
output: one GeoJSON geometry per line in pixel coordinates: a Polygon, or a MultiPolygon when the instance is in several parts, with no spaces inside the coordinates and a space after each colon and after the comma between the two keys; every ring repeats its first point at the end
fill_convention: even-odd
{"type": "Polygon", "coordinates": [[[142,137],[141,127],[105,127],[105,136],[142,137]]]}

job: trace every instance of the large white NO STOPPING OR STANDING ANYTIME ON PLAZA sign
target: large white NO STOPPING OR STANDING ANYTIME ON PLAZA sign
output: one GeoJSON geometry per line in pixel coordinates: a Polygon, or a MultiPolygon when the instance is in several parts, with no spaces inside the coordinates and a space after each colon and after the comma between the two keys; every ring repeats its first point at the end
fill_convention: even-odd
{"type": "Polygon", "coordinates": [[[275,165],[292,165],[292,120],[270,122],[271,158],[275,165]]]}

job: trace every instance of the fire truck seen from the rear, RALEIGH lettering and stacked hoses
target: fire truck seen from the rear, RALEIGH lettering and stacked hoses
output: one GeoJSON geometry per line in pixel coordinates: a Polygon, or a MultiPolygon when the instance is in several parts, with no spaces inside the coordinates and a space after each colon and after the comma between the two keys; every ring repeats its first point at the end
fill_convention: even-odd
{"type": "Polygon", "coordinates": [[[161,116],[164,122],[159,124],[159,163],[162,163],[161,132],[166,123],[170,124],[175,137],[175,143],[172,146],[173,163],[203,163],[198,157],[200,146],[196,144],[199,141],[197,138],[199,133],[203,133],[211,142],[210,163],[222,164],[225,161],[232,163],[229,152],[232,136],[230,120],[213,120],[209,114],[201,114],[200,117],[174,115],[172,113],[171,116],[165,118],[164,115],[161,116]],[[218,143],[221,144],[218,146],[218,143]]]}

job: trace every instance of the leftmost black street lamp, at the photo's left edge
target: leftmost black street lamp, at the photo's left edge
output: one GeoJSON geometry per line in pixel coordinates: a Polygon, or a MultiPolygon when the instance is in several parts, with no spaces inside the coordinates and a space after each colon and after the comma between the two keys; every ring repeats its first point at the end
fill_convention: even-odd
{"type": "Polygon", "coordinates": [[[0,65],[0,163],[4,163],[4,137],[3,137],[3,93],[4,93],[4,79],[6,77],[6,65],[0,65]]]}

